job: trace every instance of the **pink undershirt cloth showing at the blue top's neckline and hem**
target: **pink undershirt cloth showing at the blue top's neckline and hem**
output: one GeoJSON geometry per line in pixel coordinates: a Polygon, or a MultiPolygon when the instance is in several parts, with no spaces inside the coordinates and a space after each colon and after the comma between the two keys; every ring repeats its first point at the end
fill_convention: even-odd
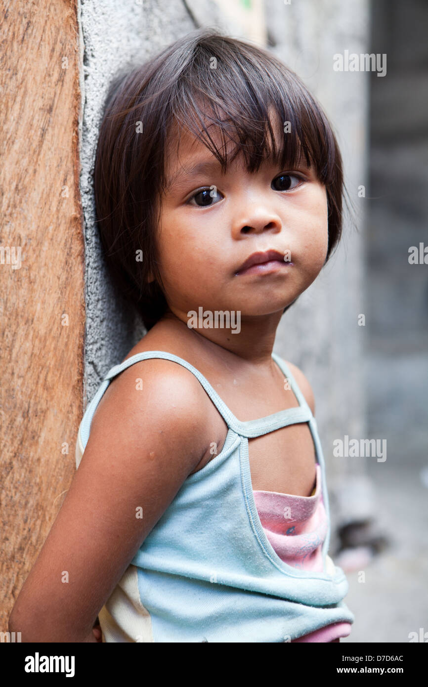
{"type": "MultiPolygon", "coordinates": [[[[323,572],[322,544],[327,534],[327,515],[321,488],[321,467],[316,465],[311,496],[275,491],[253,491],[258,515],[269,543],[287,565],[323,572]]],[[[333,642],[347,637],[349,622],[334,622],[291,642],[333,642]]]]}

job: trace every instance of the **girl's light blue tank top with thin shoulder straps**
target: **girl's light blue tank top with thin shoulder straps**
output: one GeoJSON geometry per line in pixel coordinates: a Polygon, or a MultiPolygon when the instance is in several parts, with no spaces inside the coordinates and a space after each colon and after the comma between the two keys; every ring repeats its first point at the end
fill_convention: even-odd
{"type": "Polygon", "coordinates": [[[328,556],[330,511],[317,423],[277,354],[272,358],[300,405],[247,421],[238,420],[203,374],[174,354],[146,351],[115,365],[80,423],[76,467],[111,379],[149,358],[174,361],[190,370],[228,430],[221,453],[183,482],[102,607],[98,617],[103,641],[291,642],[334,622],[354,622],[343,602],[348,581],[328,556]],[[321,468],[328,518],[324,572],[300,570],[280,559],[262,527],[251,485],[248,439],[306,422],[321,468]]]}

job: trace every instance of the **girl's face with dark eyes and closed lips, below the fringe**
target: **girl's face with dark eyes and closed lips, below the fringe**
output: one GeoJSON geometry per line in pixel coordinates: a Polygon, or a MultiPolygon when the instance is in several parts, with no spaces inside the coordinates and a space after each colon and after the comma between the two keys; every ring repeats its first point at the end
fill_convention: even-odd
{"type": "Polygon", "coordinates": [[[326,189],[313,169],[266,162],[251,174],[238,156],[221,174],[210,150],[186,132],[179,155],[177,143],[170,145],[167,174],[159,270],[168,306],[183,322],[200,306],[240,311],[241,322],[278,318],[315,280],[326,260],[328,224],[326,189]],[[239,273],[251,254],[269,250],[282,260],[239,273]]]}

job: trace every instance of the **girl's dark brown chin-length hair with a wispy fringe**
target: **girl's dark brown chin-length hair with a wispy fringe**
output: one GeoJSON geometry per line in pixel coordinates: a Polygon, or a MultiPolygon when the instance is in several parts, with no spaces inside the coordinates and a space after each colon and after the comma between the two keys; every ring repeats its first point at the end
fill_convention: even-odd
{"type": "Polygon", "coordinates": [[[191,32],[144,65],[134,63],[117,74],[95,157],[95,212],[106,262],[147,330],[167,308],[156,230],[168,183],[166,148],[177,124],[207,146],[223,171],[236,155],[245,157],[248,172],[257,171],[264,159],[292,168],[303,155],[326,186],[326,262],[341,236],[341,155],[317,101],[293,71],[264,49],[213,28],[191,32]],[[271,107],[280,122],[290,122],[279,150],[271,107]],[[221,150],[215,146],[206,122],[218,126],[223,141],[236,144],[232,157],[224,145],[221,150]],[[148,284],[150,271],[155,281],[148,284]]]}

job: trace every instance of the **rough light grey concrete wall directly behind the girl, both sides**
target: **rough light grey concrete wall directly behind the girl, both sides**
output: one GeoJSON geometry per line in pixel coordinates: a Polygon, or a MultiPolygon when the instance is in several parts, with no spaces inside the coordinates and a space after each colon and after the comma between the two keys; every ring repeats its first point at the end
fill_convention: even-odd
{"type": "MultiPolygon", "coordinates": [[[[337,131],[357,224],[362,227],[364,199],[357,197],[357,187],[365,184],[370,75],[333,71],[333,54],[344,49],[366,52],[368,3],[302,0],[284,5],[265,0],[264,5],[270,49],[302,76],[337,131]]],[[[80,10],[85,44],[81,154],[87,260],[85,374],[90,400],[102,375],[144,333],[141,323],[134,321],[112,292],[93,225],[91,173],[102,103],[111,77],[130,59],[144,60],[199,25],[216,25],[234,35],[239,30],[210,0],[145,0],[142,4],[80,0],[80,10]]],[[[367,501],[370,484],[364,477],[367,459],[333,458],[332,453],[334,438],[344,434],[365,437],[365,328],[357,324],[359,313],[365,313],[362,282],[363,233],[347,222],[335,256],[284,315],[275,342],[275,351],[299,365],[313,385],[333,497],[332,516],[337,523],[371,509],[367,501]]]]}

